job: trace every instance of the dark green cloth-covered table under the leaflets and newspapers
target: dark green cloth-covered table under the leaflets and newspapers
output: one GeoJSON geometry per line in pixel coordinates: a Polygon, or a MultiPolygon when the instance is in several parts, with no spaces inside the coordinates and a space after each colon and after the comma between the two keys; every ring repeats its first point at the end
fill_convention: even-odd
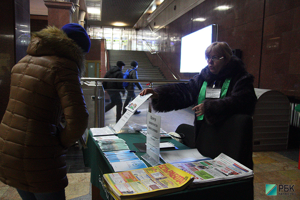
{"type": "MultiPolygon", "coordinates": [[[[122,133],[118,134],[118,137],[126,141],[126,144],[131,151],[139,151],[133,145],[133,143],[146,143],[146,136],[141,133],[122,133]]],[[[172,142],[176,147],[179,148],[179,150],[189,149],[187,146],[171,138],[161,139],[161,142],[164,141],[172,142]]],[[[136,152],[135,154],[137,154],[137,156],[143,160],[141,156],[145,153],[136,152]]],[[[97,141],[92,138],[91,132],[89,132],[87,148],[83,149],[83,158],[85,166],[91,168],[92,200],[112,199],[110,194],[103,187],[102,176],[103,174],[113,173],[114,170],[108,160],[105,158],[97,141]]],[[[151,167],[149,163],[147,163],[145,160],[143,161],[148,167],[151,167]]],[[[164,163],[162,160],[161,162],[164,163]]],[[[199,199],[202,196],[205,199],[253,199],[253,178],[196,189],[185,189],[181,192],[161,195],[149,199],[199,199]]]]}

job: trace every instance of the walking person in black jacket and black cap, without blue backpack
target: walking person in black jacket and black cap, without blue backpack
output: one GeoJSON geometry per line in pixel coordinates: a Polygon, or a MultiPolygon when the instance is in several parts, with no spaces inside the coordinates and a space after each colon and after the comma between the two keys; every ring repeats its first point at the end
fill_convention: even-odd
{"type": "MultiPolygon", "coordinates": [[[[110,70],[105,74],[104,78],[108,79],[123,79],[122,69],[125,66],[124,62],[118,61],[117,66],[110,67],[110,70]]],[[[112,109],[115,105],[117,106],[116,111],[116,122],[122,117],[122,99],[120,92],[122,92],[123,97],[125,95],[125,88],[123,87],[123,82],[104,82],[104,89],[110,95],[110,103],[105,106],[105,112],[112,109]]]]}

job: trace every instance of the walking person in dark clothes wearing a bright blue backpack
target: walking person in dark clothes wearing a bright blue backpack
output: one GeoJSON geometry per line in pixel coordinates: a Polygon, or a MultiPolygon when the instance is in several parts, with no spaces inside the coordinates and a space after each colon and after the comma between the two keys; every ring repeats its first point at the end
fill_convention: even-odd
{"type": "MultiPolygon", "coordinates": [[[[128,78],[128,79],[139,79],[138,76],[137,76],[137,67],[138,67],[138,63],[137,61],[132,61],[131,62],[131,70],[126,70],[126,72],[124,73],[125,75],[124,76],[127,76],[128,74],[128,77],[124,77],[124,78],[128,78]]],[[[126,90],[127,90],[127,97],[126,97],[126,100],[125,100],[125,103],[124,103],[124,106],[123,106],[123,115],[124,113],[126,112],[126,106],[128,105],[128,103],[132,100],[135,99],[136,95],[134,93],[134,90],[135,90],[135,86],[137,86],[141,91],[143,90],[143,87],[142,85],[139,83],[139,82],[124,82],[123,83],[123,86],[125,86],[126,90]]],[[[137,110],[134,112],[134,115],[137,115],[137,114],[140,114],[141,111],[137,110]]]]}

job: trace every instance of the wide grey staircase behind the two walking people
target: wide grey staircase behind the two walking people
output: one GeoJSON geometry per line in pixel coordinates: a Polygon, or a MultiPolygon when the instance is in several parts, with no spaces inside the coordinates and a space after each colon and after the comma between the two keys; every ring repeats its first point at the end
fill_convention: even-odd
{"type": "MultiPolygon", "coordinates": [[[[130,63],[131,61],[137,61],[137,75],[139,79],[147,79],[147,80],[157,80],[157,79],[166,79],[161,70],[153,66],[150,62],[149,58],[145,54],[144,51],[127,51],[127,50],[107,50],[108,51],[108,59],[110,66],[114,66],[117,64],[117,61],[123,61],[126,66],[124,66],[123,73],[127,69],[131,69],[130,63]]],[[[142,87],[148,88],[146,82],[141,82],[142,87]]],[[[160,83],[153,83],[153,87],[157,87],[159,85],[164,85],[160,83]]],[[[138,88],[136,88],[138,90],[138,88]]],[[[137,93],[137,92],[136,92],[137,93]]]]}

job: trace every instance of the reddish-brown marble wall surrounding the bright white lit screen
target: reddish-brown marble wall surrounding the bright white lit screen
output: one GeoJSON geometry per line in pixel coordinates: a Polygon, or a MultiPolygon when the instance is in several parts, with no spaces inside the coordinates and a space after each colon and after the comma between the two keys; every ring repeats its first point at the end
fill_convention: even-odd
{"type": "MultiPolygon", "coordinates": [[[[189,79],[195,73],[179,72],[181,37],[217,24],[218,41],[241,49],[241,59],[255,76],[255,88],[300,97],[299,19],[298,0],[206,0],[157,31],[160,40],[156,42],[169,67],[181,79],[189,79]],[[231,8],[215,10],[223,5],[231,8]],[[200,17],[206,20],[193,20],[200,17]]],[[[199,56],[204,56],[204,52],[199,52],[199,56]]]]}

